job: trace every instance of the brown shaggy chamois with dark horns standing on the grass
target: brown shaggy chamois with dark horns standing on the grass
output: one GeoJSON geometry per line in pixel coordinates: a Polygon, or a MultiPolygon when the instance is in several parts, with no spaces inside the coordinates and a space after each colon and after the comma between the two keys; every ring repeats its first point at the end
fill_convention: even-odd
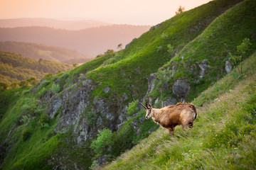
{"type": "Polygon", "coordinates": [[[193,128],[193,121],[196,120],[196,106],[190,103],[177,103],[176,105],[166,106],[164,108],[152,108],[151,104],[146,102],[146,119],[152,118],[155,123],[169,130],[169,134],[174,135],[176,125],[182,128],[193,128]]]}

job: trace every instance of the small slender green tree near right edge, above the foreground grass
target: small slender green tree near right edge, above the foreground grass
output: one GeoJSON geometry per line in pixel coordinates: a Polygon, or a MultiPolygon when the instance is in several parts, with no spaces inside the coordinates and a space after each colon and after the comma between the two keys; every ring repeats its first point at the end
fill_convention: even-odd
{"type": "Polygon", "coordinates": [[[250,46],[252,43],[250,42],[249,38],[245,38],[242,40],[242,43],[237,46],[237,52],[238,55],[233,55],[231,52],[228,53],[230,55],[230,62],[232,62],[234,65],[240,64],[240,72],[242,76],[242,60],[246,57],[248,50],[250,49],[250,46]]]}

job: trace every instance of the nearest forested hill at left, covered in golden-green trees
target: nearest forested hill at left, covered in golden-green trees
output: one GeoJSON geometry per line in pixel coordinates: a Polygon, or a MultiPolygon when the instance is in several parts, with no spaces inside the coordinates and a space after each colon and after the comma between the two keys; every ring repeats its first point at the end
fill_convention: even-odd
{"type": "Polygon", "coordinates": [[[11,84],[36,77],[42,79],[46,73],[71,69],[68,64],[47,60],[33,60],[14,52],[0,52],[0,82],[11,84]]]}

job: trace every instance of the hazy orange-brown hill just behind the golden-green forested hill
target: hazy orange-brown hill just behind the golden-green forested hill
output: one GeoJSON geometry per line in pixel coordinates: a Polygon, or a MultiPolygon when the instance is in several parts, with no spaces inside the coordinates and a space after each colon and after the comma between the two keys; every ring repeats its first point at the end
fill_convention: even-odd
{"type": "Polygon", "coordinates": [[[43,59],[64,62],[66,64],[85,63],[94,58],[90,55],[83,55],[80,52],[63,47],[28,42],[0,42],[0,51],[16,52],[23,57],[33,58],[34,60],[43,59]]]}

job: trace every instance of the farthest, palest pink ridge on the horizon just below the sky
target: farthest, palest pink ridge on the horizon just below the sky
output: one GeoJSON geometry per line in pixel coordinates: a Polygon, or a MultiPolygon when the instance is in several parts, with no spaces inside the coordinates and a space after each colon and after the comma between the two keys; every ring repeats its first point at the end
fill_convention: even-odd
{"type": "Polygon", "coordinates": [[[1,28],[43,26],[66,30],[82,30],[86,28],[110,26],[110,23],[94,20],[63,21],[52,18],[13,18],[0,19],[1,28]]]}

